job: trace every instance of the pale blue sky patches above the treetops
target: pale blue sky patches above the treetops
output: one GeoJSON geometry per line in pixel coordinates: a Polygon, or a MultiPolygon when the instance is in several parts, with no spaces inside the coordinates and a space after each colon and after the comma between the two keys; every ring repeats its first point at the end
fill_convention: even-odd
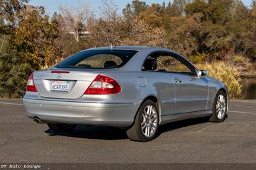
{"type": "MultiPolygon", "coordinates": [[[[90,10],[97,11],[102,0],[30,0],[29,4],[33,6],[44,6],[45,11],[48,15],[52,15],[54,11],[59,12],[58,7],[61,5],[76,6],[77,4],[88,4],[90,10]]],[[[147,4],[163,2],[168,3],[170,0],[144,0],[147,4]]],[[[252,0],[242,0],[243,3],[250,7],[252,0]]],[[[120,8],[120,13],[122,9],[125,8],[127,3],[131,3],[132,0],[113,0],[113,3],[120,8]]]]}

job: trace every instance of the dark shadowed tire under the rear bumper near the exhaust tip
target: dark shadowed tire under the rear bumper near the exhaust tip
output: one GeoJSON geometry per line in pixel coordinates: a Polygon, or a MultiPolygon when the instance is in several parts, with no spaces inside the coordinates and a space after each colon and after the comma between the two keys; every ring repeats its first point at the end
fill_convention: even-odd
{"type": "Polygon", "coordinates": [[[70,124],[47,124],[49,129],[57,133],[70,133],[76,129],[77,125],[70,124]]]}

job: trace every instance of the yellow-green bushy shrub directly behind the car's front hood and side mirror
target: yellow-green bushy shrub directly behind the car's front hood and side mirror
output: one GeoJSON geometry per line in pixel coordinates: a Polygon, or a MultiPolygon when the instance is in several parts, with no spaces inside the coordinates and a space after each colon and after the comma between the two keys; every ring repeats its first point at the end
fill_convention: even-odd
{"type": "Polygon", "coordinates": [[[239,72],[224,62],[214,62],[212,64],[196,64],[198,69],[206,69],[209,75],[223,81],[228,87],[230,99],[237,99],[241,95],[241,85],[239,84],[239,72]]]}

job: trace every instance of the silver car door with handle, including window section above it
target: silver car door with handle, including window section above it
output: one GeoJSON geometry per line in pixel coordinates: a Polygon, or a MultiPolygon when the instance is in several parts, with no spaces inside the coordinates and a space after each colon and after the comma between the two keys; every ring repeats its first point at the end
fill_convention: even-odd
{"type": "Polygon", "coordinates": [[[173,55],[172,73],[175,96],[175,113],[204,111],[208,100],[208,83],[204,77],[198,77],[189,62],[173,55]]]}

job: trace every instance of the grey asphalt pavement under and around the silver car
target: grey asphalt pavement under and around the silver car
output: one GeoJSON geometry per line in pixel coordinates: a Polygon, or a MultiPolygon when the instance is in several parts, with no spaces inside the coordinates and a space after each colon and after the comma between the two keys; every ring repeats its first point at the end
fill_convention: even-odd
{"type": "Polygon", "coordinates": [[[54,134],[27,118],[20,99],[0,100],[0,162],[256,163],[256,101],[230,101],[222,123],[202,118],[162,125],[148,143],[114,127],[54,134]]]}

